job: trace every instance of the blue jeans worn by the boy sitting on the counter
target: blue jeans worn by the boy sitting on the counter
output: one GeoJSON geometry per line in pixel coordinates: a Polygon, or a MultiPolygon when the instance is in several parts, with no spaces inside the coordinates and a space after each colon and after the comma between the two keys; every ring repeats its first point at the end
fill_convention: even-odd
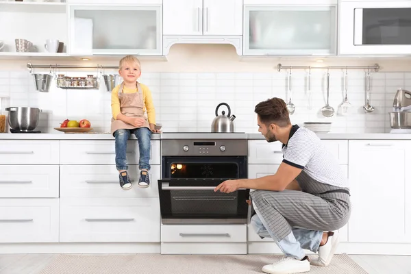
{"type": "Polygon", "coordinates": [[[147,127],[140,127],[138,129],[117,129],[114,132],[114,137],[116,138],[116,169],[118,171],[127,171],[127,140],[130,135],[136,135],[138,141],[138,150],[140,151],[140,158],[138,160],[138,168],[140,170],[147,169],[150,170],[150,139],[151,130],[147,127]]]}

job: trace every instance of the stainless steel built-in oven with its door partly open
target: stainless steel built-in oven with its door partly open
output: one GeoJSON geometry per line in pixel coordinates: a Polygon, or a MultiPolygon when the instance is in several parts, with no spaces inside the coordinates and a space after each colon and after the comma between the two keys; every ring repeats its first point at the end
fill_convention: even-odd
{"type": "Polygon", "coordinates": [[[162,223],[247,223],[248,189],[214,192],[226,179],[238,178],[247,178],[247,139],[162,140],[162,223]]]}

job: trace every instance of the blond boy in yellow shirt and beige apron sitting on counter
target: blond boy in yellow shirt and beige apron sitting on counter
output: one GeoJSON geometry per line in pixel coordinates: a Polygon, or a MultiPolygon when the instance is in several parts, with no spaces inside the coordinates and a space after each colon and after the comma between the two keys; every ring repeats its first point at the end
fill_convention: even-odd
{"type": "Polygon", "coordinates": [[[155,129],[155,110],[151,92],[147,86],[137,82],[141,75],[140,61],[127,55],[120,60],[119,75],[123,82],[112,90],[112,124],[111,133],[116,138],[116,169],[119,171],[120,186],[124,190],[132,188],[128,175],[126,149],[131,134],[136,135],[140,159],[140,179],[138,186],[147,188],[150,184],[150,137],[155,129]],[[145,111],[147,110],[147,118],[145,111]]]}

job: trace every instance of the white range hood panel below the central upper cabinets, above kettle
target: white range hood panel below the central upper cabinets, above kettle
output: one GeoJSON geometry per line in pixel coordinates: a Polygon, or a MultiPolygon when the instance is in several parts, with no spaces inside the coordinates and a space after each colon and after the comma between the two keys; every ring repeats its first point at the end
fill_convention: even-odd
{"type": "Polygon", "coordinates": [[[164,35],[163,55],[168,55],[171,46],[175,44],[231,44],[236,48],[236,53],[242,55],[242,35],[236,36],[203,36],[203,35],[164,35]]]}

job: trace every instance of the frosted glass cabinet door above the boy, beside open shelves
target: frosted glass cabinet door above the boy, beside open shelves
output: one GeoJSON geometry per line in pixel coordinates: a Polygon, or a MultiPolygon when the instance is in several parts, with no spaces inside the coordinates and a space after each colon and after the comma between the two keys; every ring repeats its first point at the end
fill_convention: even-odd
{"type": "Polygon", "coordinates": [[[161,55],[160,5],[72,5],[70,53],[161,55]]]}

